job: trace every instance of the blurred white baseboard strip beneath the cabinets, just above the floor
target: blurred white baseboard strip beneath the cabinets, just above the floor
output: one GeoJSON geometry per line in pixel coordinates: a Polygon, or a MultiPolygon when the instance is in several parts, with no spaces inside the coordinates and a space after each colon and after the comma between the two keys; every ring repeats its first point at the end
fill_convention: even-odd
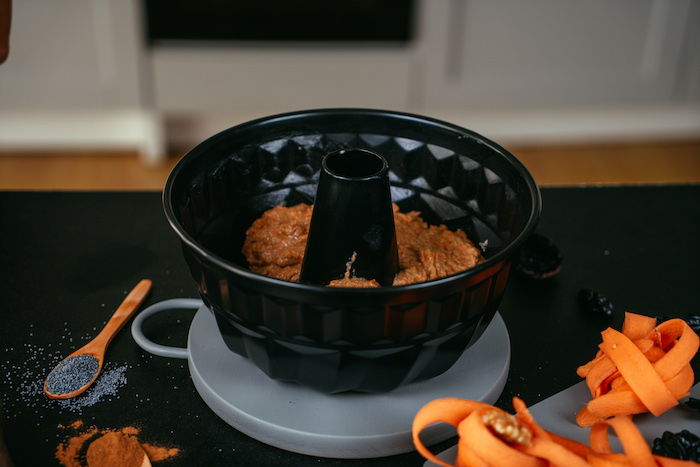
{"type": "MultiPolygon", "coordinates": [[[[700,105],[408,111],[468,128],[501,145],[700,139],[700,105]]],[[[157,164],[164,160],[167,145],[192,147],[226,128],[272,113],[277,112],[232,111],[162,118],[143,110],[0,111],[0,150],[134,149],[145,163],[157,164]]]]}

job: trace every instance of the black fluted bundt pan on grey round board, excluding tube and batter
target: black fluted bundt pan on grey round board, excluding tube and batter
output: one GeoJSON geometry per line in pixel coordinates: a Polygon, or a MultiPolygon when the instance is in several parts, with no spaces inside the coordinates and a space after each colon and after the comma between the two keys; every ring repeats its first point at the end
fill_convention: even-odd
{"type": "MultiPolygon", "coordinates": [[[[340,175],[383,169],[365,170],[340,175]]],[[[371,109],[300,111],[224,130],[178,162],[163,203],[228,348],[273,379],[324,393],[386,392],[449,369],[498,309],[541,211],[532,176],[502,147],[446,122],[371,109]],[[313,204],[324,158],[338,151],[384,159],[391,202],[430,225],[461,229],[484,261],[366,289],[251,271],[242,253],[248,228],[275,206],[313,204]]]]}

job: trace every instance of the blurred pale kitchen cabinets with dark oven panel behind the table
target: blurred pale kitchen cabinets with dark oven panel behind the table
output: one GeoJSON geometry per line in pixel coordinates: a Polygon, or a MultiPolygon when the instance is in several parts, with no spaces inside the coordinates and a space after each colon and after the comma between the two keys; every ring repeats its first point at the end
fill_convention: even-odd
{"type": "Polygon", "coordinates": [[[500,143],[700,137],[700,0],[15,0],[0,150],[146,163],[318,107],[500,143]]]}

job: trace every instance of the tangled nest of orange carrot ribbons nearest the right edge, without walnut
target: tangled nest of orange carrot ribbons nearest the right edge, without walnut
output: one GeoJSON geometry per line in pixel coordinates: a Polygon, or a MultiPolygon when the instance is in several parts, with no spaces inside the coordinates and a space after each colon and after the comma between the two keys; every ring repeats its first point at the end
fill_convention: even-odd
{"type": "Polygon", "coordinates": [[[685,321],[656,326],[655,318],[625,313],[622,332],[608,328],[601,335],[598,354],[577,370],[593,397],[576,416],[580,426],[617,415],[659,416],[689,395],[700,338],[685,321]]]}

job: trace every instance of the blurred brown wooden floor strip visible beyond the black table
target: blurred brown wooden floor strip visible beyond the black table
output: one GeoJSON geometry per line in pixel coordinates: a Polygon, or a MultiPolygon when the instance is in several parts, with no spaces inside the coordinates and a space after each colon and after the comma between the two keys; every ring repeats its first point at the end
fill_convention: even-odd
{"type": "MultiPolygon", "coordinates": [[[[540,186],[700,183],[700,139],[507,148],[540,186]]],[[[0,151],[0,190],[160,190],[183,153],[148,167],[128,152],[0,151]]]]}

